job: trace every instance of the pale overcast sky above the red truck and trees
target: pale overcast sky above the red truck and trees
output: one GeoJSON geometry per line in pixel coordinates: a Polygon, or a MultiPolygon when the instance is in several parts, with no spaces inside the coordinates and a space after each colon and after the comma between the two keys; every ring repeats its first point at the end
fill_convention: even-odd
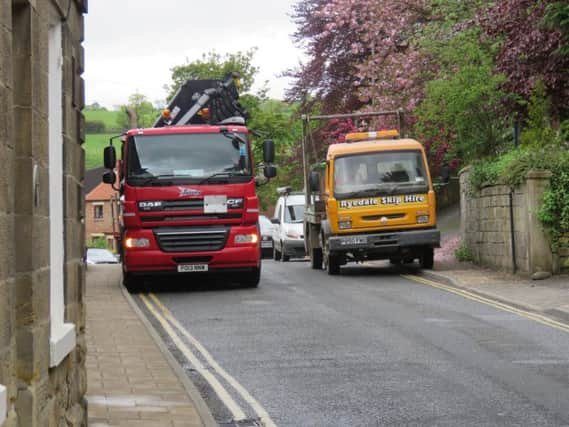
{"type": "MultiPolygon", "coordinates": [[[[256,86],[282,99],[290,80],[278,75],[303,61],[291,35],[299,0],[94,0],[85,16],[85,97],[113,109],[133,93],[164,101],[170,69],[202,54],[258,51],[256,86]]],[[[163,106],[163,103],[160,103],[163,106]]]]}

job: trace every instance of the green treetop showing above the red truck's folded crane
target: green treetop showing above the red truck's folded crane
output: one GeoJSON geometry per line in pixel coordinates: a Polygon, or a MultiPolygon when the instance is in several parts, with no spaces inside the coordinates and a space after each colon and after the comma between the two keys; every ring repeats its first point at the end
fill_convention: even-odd
{"type": "Polygon", "coordinates": [[[253,65],[256,51],[256,48],[252,48],[245,52],[239,51],[225,55],[213,51],[204,53],[201,59],[196,61],[186,61],[183,65],[176,65],[170,69],[172,84],[166,87],[169,91],[168,100],[174,97],[186,80],[223,79],[230,72],[238,72],[241,91],[249,91],[259,71],[259,68],[253,65]]]}

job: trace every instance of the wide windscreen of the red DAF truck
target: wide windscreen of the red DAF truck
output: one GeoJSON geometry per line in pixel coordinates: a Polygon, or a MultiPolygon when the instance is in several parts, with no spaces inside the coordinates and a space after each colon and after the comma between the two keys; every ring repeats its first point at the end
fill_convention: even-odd
{"type": "MultiPolygon", "coordinates": [[[[240,136],[246,140],[246,135],[240,136]]],[[[239,182],[250,179],[247,145],[220,133],[137,135],[128,141],[130,184],[145,185],[163,178],[196,182],[214,175],[239,182]]]]}

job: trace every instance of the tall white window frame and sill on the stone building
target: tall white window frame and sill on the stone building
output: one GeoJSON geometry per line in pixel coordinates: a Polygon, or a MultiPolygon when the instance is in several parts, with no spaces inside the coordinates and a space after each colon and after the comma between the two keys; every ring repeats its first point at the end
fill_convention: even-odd
{"type": "Polygon", "coordinates": [[[63,43],[62,24],[54,19],[48,37],[49,101],[49,262],[50,367],[75,348],[75,325],[65,323],[65,235],[63,210],[63,43]]]}

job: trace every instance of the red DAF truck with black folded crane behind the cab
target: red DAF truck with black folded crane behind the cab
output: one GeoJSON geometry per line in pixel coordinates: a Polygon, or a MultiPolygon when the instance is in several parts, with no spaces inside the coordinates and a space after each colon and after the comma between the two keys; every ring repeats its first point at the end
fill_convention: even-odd
{"type": "Polygon", "coordinates": [[[105,147],[103,182],[120,194],[123,284],[142,276],[230,273],[245,287],[261,274],[257,185],[276,175],[274,144],[263,142],[255,175],[248,114],[234,75],[189,80],[154,127],[105,147]]]}

